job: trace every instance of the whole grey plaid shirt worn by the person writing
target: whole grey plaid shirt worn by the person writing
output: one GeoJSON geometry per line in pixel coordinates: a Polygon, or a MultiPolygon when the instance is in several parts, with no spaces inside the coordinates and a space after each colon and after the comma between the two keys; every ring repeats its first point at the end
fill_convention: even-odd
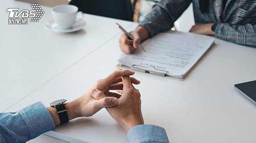
{"type": "Polygon", "coordinates": [[[195,23],[216,23],[215,37],[256,47],[256,0],[210,0],[209,13],[202,13],[199,0],[161,0],[140,23],[152,37],[173,27],[193,3],[195,23]]]}

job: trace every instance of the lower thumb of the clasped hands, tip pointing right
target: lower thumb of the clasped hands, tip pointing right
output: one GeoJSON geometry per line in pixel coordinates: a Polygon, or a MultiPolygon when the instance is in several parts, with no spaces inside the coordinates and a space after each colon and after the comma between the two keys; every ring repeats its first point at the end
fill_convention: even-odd
{"type": "Polygon", "coordinates": [[[107,108],[112,107],[116,105],[118,102],[118,99],[115,97],[105,97],[101,100],[94,100],[93,104],[95,109],[100,110],[101,108],[107,108]]]}

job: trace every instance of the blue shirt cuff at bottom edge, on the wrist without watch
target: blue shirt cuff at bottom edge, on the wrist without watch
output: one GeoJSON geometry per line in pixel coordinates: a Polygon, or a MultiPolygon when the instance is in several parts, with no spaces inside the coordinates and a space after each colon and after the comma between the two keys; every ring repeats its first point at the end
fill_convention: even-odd
{"type": "Polygon", "coordinates": [[[165,129],[152,124],[133,127],[127,134],[128,143],[169,143],[165,129]]]}

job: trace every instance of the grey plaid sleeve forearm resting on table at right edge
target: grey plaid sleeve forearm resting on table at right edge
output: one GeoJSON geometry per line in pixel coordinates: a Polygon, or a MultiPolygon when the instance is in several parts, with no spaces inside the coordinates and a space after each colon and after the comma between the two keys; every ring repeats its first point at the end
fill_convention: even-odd
{"type": "Polygon", "coordinates": [[[237,44],[256,47],[256,25],[231,25],[219,23],[214,30],[215,37],[237,44]]]}

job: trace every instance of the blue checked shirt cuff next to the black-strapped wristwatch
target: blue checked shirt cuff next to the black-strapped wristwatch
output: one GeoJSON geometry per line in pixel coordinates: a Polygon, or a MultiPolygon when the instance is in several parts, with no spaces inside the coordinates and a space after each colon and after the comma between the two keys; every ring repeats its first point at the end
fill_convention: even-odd
{"type": "Polygon", "coordinates": [[[54,120],[42,102],[29,105],[19,110],[19,113],[29,130],[30,139],[55,128],[54,120]]]}

